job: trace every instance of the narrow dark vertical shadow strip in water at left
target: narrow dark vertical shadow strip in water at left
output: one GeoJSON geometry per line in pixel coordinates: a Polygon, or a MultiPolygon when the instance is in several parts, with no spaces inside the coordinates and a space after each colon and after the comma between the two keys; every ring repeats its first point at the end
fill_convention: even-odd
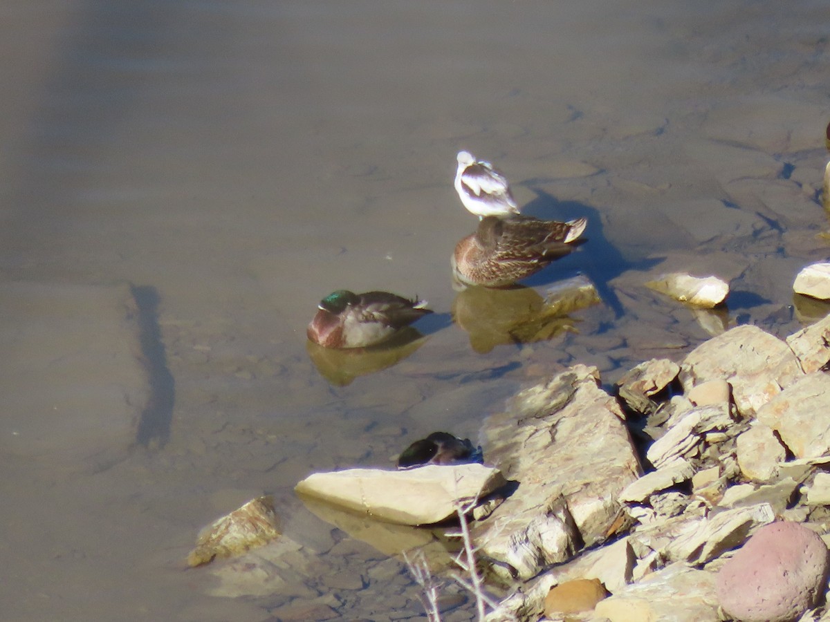
{"type": "Polygon", "coordinates": [[[131,285],[139,309],[139,343],[150,386],[150,399],[139,419],[135,441],[139,445],[159,449],[170,438],[176,383],[167,367],[167,355],[159,330],[159,293],[149,285],[131,285]]]}

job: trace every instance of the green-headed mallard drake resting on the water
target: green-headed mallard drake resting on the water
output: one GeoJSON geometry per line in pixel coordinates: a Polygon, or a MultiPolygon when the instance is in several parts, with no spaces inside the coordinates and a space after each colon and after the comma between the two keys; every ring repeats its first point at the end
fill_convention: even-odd
{"type": "Polygon", "coordinates": [[[424,300],[387,292],[354,294],[338,289],[320,300],[305,333],[323,347],[366,347],[381,343],[427,313],[424,300]]]}

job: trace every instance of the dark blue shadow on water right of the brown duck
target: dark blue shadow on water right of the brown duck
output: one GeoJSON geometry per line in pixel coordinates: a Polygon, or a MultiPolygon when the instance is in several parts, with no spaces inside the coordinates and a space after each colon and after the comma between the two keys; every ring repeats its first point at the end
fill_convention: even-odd
{"type": "MultiPolygon", "coordinates": [[[[623,305],[620,303],[617,294],[608,285],[608,282],[616,279],[623,272],[647,270],[652,265],[659,264],[662,260],[626,260],[604,236],[602,217],[597,208],[575,201],[560,202],[538,187],[530,186],[530,188],[536,193],[536,198],[522,208],[523,214],[544,218],[545,220],[569,221],[580,216],[588,219],[588,226],[583,235],[587,240],[585,244],[571,255],[554,262],[554,266],[565,272],[578,270],[587,275],[597,288],[605,304],[613,309],[614,316],[616,318],[623,317],[623,305]]],[[[548,284],[550,278],[549,270],[542,270],[538,275],[526,279],[524,284],[538,287],[548,284]]]]}

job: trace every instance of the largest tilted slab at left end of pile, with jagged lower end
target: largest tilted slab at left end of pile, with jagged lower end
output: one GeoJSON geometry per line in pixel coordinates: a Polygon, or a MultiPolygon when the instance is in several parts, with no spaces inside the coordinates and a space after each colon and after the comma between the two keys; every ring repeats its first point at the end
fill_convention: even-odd
{"type": "MultiPolygon", "coordinates": [[[[619,494],[642,474],[617,401],[577,365],[520,391],[482,429],[487,459],[519,482],[473,527],[482,556],[523,579],[605,537],[619,494]]],[[[506,572],[506,571],[505,571],[506,572]]],[[[504,577],[505,579],[508,576],[504,577]]]]}

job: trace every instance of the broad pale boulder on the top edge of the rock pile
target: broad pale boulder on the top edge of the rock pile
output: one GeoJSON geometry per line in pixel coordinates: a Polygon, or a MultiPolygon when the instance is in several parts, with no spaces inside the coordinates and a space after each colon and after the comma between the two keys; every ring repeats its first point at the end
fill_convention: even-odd
{"type": "Polygon", "coordinates": [[[740,414],[749,417],[803,371],[786,343],[757,326],[745,324],[711,338],[692,350],[681,364],[686,391],[708,380],[726,380],[740,414]]]}

